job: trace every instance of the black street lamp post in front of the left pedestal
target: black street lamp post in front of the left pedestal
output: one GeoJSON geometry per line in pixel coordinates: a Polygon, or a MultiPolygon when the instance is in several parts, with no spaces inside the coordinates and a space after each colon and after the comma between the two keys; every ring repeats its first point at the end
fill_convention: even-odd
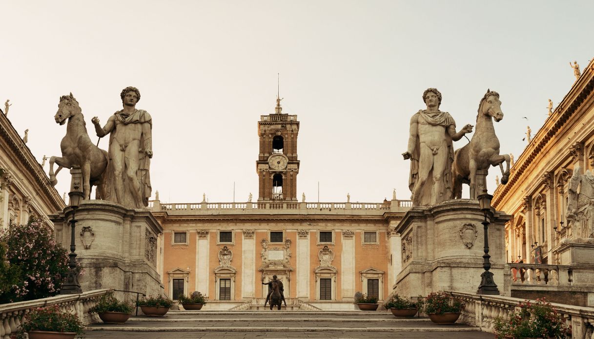
{"type": "Polygon", "coordinates": [[[75,218],[76,210],[78,205],[83,200],[83,192],[80,192],[80,184],[82,179],[82,173],[80,168],[72,168],[72,187],[71,192],[68,193],[70,198],[70,207],[72,208],[72,219],[70,220],[70,262],[68,263],[68,275],[66,281],[60,290],[60,294],[80,294],[83,290],[80,288],[78,283],[78,272],[76,271],[76,245],[74,243],[74,228],[76,227],[77,219],[75,218]]]}

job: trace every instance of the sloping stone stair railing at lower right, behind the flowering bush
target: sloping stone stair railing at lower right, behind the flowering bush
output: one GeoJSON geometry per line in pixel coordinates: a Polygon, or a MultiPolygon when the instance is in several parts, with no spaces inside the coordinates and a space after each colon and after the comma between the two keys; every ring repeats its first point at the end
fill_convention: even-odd
{"type": "MultiPolygon", "coordinates": [[[[460,322],[481,328],[481,331],[495,332],[495,318],[507,319],[524,299],[503,296],[482,296],[479,294],[450,291],[465,303],[460,322]]],[[[594,308],[551,303],[571,327],[572,338],[592,338],[594,308]]]]}

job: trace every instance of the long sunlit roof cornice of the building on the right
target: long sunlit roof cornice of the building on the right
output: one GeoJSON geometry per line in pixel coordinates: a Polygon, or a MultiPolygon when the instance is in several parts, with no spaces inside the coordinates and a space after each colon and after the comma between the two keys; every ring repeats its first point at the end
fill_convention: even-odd
{"type": "MultiPolygon", "coordinates": [[[[526,147],[522,155],[514,164],[510,180],[505,185],[500,185],[495,189],[492,205],[499,208],[501,202],[507,195],[513,191],[520,177],[533,164],[535,158],[541,150],[556,140],[564,140],[565,134],[569,133],[571,127],[594,106],[594,63],[590,62],[584,68],[583,74],[576,83],[573,84],[570,91],[565,95],[563,101],[557,106],[551,118],[545,121],[545,124],[539,129],[536,136],[526,147]],[[587,100],[589,98],[589,100],[587,100]],[[556,118],[555,118],[556,117],[556,118]]],[[[520,181],[521,183],[522,181],[520,181]]]]}

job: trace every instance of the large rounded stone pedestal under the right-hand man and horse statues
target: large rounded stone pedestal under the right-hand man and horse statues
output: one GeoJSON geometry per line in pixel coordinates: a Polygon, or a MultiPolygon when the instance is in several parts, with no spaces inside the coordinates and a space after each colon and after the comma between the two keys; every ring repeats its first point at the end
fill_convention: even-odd
{"type": "MultiPolygon", "coordinates": [[[[396,292],[405,297],[435,291],[476,293],[484,272],[484,214],[477,200],[447,200],[412,208],[396,226],[402,245],[402,271],[396,292]]],[[[510,216],[495,212],[489,225],[491,272],[504,293],[505,234],[510,216]]]]}

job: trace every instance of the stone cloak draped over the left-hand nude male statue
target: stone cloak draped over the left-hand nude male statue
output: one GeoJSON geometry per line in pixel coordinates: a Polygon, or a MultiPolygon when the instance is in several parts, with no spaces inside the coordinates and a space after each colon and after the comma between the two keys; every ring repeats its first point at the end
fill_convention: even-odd
{"type": "MultiPolygon", "coordinates": [[[[153,120],[150,117],[150,114],[147,111],[144,111],[143,109],[136,109],[134,112],[130,113],[130,114],[124,114],[124,111],[117,111],[115,112],[113,115],[115,115],[115,120],[116,120],[116,125],[115,128],[118,128],[118,125],[124,124],[124,125],[128,125],[128,124],[143,124],[143,123],[148,123],[151,126],[151,129],[153,128],[153,120]]],[[[111,146],[111,143],[113,142],[113,138],[114,138],[114,134],[113,131],[112,133],[109,134],[109,145],[111,146]]],[[[138,180],[138,184],[140,186],[140,196],[143,199],[143,204],[144,206],[148,206],[149,205],[149,198],[151,196],[151,184],[150,184],[150,158],[146,155],[145,151],[145,145],[146,142],[148,141],[149,143],[152,140],[147,140],[150,139],[151,136],[145,136],[144,133],[141,134],[140,136],[140,143],[138,145],[138,169],[136,171],[136,178],[138,180]]],[[[125,171],[122,170],[122,177],[123,177],[123,182],[124,182],[124,201],[123,202],[119,202],[118,198],[116,196],[115,193],[115,180],[113,178],[113,162],[111,161],[112,155],[109,154],[109,165],[108,165],[108,169],[107,169],[107,173],[106,173],[106,178],[107,180],[105,180],[105,199],[106,200],[110,200],[113,202],[117,202],[120,203],[124,206],[129,206],[132,208],[143,208],[143,206],[137,206],[138,204],[134,201],[133,197],[132,197],[132,193],[131,193],[131,187],[128,183],[128,178],[125,175],[125,171]]],[[[127,164],[127,160],[125,159],[124,161],[127,164]]]]}

